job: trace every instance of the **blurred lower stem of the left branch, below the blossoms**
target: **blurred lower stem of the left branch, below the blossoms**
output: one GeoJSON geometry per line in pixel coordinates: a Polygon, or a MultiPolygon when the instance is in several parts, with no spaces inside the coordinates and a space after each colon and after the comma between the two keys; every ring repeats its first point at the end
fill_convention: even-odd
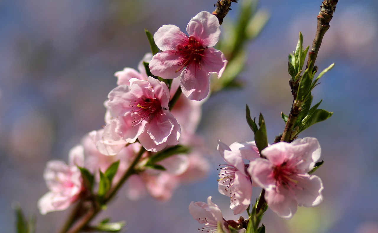
{"type": "MultiPolygon", "coordinates": [[[[140,149],[138,155],[136,155],[133,162],[130,164],[127,171],[122,176],[121,180],[116,184],[116,186],[110,190],[104,198],[104,204],[106,204],[109,200],[113,198],[113,196],[117,193],[117,191],[121,188],[121,186],[125,183],[129,177],[135,173],[135,166],[138,164],[139,160],[141,159],[143,153],[146,151],[143,147],[140,149]]],[[[68,231],[61,231],[62,233],[78,233],[82,228],[84,228],[96,215],[101,211],[101,207],[98,205],[94,205],[91,207],[88,212],[81,218],[76,224],[73,225],[68,231]]]]}

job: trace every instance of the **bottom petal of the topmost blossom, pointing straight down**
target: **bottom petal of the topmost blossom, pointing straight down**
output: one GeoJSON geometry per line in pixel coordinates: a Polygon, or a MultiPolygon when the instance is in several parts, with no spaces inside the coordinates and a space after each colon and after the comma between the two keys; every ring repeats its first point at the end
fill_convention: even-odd
{"type": "Polygon", "coordinates": [[[191,100],[202,100],[209,94],[209,76],[204,70],[195,69],[194,65],[189,66],[181,75],[181,90],[191,100]]]}

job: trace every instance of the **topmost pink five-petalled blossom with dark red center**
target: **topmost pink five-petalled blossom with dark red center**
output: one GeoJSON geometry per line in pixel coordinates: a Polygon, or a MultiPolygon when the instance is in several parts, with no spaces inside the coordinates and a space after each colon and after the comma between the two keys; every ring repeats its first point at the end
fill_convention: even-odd
{"type": "Polygon", "coordinates": [[[209,76],[222,76],[227,60],[213,47],[219,40],[220,26],[216,16],[202,11],[193,17],[187,27],[187,36],[175,25],[163,25],[154,34],[156,45],[163,51],[155,54],[149,64],[151,73],[165,79],[180,73],[181,89],[192,100],[206,98],[209,76]],[[184,68],[186,67],[186,68],[184,68]]]}

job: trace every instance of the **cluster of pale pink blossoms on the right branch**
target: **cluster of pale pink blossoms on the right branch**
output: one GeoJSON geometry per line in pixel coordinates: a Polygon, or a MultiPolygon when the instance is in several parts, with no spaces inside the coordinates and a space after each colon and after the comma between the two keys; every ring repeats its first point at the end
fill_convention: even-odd
{"type": "MultiPolygon", "coordinates": [[[[272,144],[263,149],[261,155],[254,141],[235,142],[229,147],[218,141],[218,151],[227,163],[219,172],[218,191],[230,197],[234,214],[247,210],[253,186],[265,190],[268,207],[285,219],[293,217],[297,206],[315,207],[322,201],[321,179],[308,174],[321,154],[316,138],[272,144]],[[243,159],[249,163],[245,164],[243,159]]],[[[208,232],[216,232],[219,222],[225,225],[219,217],[222,216],[220,210],[211,203],[210,197],[208,205],[192,202],[189,211],[200,224],[205,223],[208,232]],[[209,216],[213,216],[211,221],[203,221],[209,216]]]]}

